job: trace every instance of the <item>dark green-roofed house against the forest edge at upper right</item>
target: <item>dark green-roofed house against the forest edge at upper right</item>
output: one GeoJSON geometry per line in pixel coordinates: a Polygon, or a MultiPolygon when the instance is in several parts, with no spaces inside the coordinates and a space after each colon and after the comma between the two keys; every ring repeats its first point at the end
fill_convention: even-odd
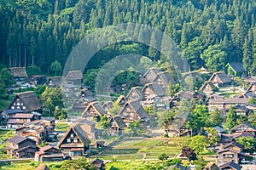
{"type": "Polygon", "coordinates": [[[247,71],[243,68],[241,62],[232,62],[226,65],[227,74],[233,75],[235,77],[247,77],[247,71]]]}

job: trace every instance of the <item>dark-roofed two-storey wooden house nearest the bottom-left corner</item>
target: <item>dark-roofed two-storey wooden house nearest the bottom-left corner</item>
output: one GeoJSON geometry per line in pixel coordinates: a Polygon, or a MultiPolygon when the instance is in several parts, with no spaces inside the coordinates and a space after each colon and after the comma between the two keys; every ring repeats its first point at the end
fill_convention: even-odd
{"type": "Polygon", "coordinates": [[[17,158],[34,157],[35,152],[38,151],[37,144],[34,140],[22,136],[15,136],[8,139],[8,146],[6,148],[9,156],[17,158]]]}

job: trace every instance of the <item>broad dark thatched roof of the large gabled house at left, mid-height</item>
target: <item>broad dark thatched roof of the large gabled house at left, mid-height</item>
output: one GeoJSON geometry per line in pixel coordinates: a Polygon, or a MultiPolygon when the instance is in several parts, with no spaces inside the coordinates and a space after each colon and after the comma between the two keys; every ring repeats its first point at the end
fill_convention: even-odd
{"type": "Polygon", "coordinates": [[[42,108],[38,97],[32,91],[16,94],[15,98],[9,105],[9,109],[11,109],[11,106],[15,102],[15,99],[20,99],[23,105],[26,106],[26,111],[38,111],[42,108]]]}

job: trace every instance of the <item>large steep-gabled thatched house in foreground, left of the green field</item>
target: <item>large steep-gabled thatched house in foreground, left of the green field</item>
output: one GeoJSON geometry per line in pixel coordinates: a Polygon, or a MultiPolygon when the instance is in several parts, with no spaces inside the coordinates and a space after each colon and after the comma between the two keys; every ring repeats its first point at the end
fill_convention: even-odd
{"type": "Polygon", "coordinates": [[[68,156],[84,156],[85,151],[89,149],[89,144],[90,139],[83,128],[79,123],[74,123],[61,138],[57,148],[68,156]]]}

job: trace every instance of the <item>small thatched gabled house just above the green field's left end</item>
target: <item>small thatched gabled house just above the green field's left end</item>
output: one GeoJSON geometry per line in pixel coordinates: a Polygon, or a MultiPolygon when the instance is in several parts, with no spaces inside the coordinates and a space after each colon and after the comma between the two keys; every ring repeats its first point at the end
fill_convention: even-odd
{"type": "Polygon", "coordinates": [[[125,131],[125,122],[120,116],[110,118],[110,127],[108,133],[111,136],[123,136],[125,131]]]}

